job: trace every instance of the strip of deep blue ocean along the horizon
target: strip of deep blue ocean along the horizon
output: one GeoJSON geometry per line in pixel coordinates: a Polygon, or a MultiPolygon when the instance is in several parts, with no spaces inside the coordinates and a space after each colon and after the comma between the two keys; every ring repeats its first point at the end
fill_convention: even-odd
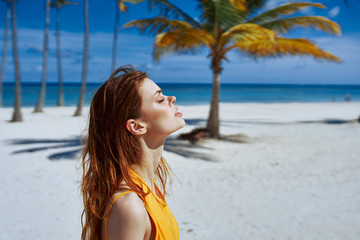
{"type": "MultiPolygon", "coordinates": [[[[88,83],[85,105],[100,83],[88,83]]],[[[208,104],[211,99],[211,84],[158,83],[165,95],[176,96],[178,105],[208,104]]],[[[40,83],[22,83],[22,106],[34,106],[40,93],[40,83]]],[[[80,83],[64,83],[64,103],[77,104],[80,83]]],[[[3,85],[3,106],[14,105],[14,83],[3,85]]],[[[58,84],[48,83],[45,106],[55,106],[58,84]]],[[[222,84],[220,102],[224,103],[286,103],[286,102],[343,102],[360,101],[360,85],[296,85],[296,84],[222,84]]]]}

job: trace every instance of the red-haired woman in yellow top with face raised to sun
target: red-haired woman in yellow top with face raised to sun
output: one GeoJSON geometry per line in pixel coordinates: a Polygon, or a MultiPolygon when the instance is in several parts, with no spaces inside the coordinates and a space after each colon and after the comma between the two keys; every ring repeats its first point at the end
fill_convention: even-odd
{"type": "Polygon", "coordinates": [[[82,156],[82,240],[179,239],[162,158],[166,138],[185,125],[175,100],[131,66],[96,92],[82,156]]]}

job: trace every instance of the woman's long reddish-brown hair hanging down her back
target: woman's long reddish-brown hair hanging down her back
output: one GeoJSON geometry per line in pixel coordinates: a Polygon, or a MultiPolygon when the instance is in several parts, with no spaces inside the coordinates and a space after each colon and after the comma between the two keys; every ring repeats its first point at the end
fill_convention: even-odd
{"type": "MultiPolygon", "coordinates": [[[[116,69],[97,90],[90,106],[87,141],[82,152],[81,192],[84,210],[81,215],[81,239],[101,239],[101,221],[106,217],[107,203],[119,190],[120,183],[139,196],[145,193],[131,178],[131,164],[142,160],[142,149],[136,137],[126,129],[126,121],[141,116],[139,89],[146,73],[126,65],[116,69]]],[[[169,170],[161,158],[156,170],[157,181],[166,194],[169,170]]]]}

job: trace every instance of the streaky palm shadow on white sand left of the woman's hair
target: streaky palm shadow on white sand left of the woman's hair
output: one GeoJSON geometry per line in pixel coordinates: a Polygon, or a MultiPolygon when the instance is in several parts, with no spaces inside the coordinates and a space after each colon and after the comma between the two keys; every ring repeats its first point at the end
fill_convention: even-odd
{"type": "Polygon", "coordinates": [[[78,154],[81,152],[81,145],[84,143],[85,139],[81,139],[79,136],[74,136],[68,139],[16,139],[9,140],[11,145],[27,146],[32,144],[42,144],[41,147],[30,147],[21,149],[18,151],[12,152],[12,154],[21,154],[21,153],[34,153],[39,151],[46,151],[50,149],[69,149],[60,151],[54,154],[50,154],[48,159],[51,161],[55,160],[74,160],[77,158],[78,154]],[[75,149],[74,149],[75,148],[75,149]]]}

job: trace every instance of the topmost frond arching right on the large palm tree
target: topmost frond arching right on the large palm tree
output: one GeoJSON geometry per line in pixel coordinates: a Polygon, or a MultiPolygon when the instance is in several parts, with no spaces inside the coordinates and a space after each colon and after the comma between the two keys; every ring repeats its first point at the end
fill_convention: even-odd
{"type": "Polygon", "coordinates": [[[270,10],[264,12],[264,13],[261,13],[261,14],[257,15],[256,17],[254,17],[252,19],[249,19],[247,22],[248,23],[262,24],[262,23],[265,23],[267,21],[274,20],[274,19],[280,17],[281,15],[293,14],[293,13],[295,13],[295,12],[301,10],[302,8],[305,8],[305,7],[326,8],[321,3],[305,3],[305,2],[293,3],[293,2],[289,2],[289,3],[282,4],[279,7],[270,9],[270,10]]]}

